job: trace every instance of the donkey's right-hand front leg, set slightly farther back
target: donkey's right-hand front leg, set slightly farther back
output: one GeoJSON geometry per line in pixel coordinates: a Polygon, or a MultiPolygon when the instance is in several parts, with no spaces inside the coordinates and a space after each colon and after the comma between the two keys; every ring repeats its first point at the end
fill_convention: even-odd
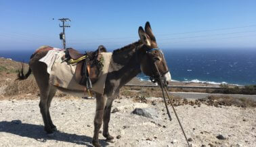
{"type": "Polygon", "coordinates": [[[110,136],[108,132],[108,123],[110,121],[110,111],[112,107],[113,98],[108,98],[106,102],[106,107],[104,109],[104,115],[103,115],[103,136],[106,138],[108,142],[113,142],[114,137],[110,136]]]}

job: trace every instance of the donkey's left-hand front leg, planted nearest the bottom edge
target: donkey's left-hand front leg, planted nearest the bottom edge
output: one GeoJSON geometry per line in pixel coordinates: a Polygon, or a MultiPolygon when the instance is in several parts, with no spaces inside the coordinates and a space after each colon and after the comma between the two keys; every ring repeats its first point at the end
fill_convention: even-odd
{"type": "Polygon", "coordinates": [[[96,113],[94,118],[94,135],[92,140],[92,143],[94,146],[100,146],[99,131],[100,131],[100,127],[102,126],[102,119],[103,119],[105,105],[106,105],[106,96],[96,94],[96,113]]]}

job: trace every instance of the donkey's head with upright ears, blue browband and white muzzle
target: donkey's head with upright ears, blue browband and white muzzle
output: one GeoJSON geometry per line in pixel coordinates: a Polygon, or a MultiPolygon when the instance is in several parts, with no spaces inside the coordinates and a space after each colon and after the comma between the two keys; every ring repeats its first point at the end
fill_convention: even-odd
{"type": "Polygon", "coordinates": [[[156,38],[154,37],[149,22],[146,22],[145,31],[142,26],[140,26],[139,36],[143,43],[138,49],[140,51],[140,68],[142,72],[146,74],[146,76],[150,76],[152,82],[158,82],[158,84],[160,84],[157,79],[162,78],[165,84],[168,84],[171,81],[171,74],[163,52],[157,47],[156,38]]]}

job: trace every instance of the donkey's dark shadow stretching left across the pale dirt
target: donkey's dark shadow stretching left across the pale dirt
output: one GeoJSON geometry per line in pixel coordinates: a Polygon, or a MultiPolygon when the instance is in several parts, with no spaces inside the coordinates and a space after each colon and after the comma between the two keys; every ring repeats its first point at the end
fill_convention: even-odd
{"type": "MultiPolygon", "coordinates": [[[[47,140],[56,140],[61,142],[71,142],[74,144],[81,144],[85,146],[92,146],[92,138],[89,136],[79,136],[77,134],[67,134],[62,131],[55,131],[54,136],[47,136],[43,125],[34,125],[22,123],[20,120],[14,121],[0,121],[0,132],[7,132],[16,134],[21,137],[33,138],[39,142],[46,142],[47,140]]],[[[102,146],[107,146],[108,143],[100,140],[102,146]]]]}

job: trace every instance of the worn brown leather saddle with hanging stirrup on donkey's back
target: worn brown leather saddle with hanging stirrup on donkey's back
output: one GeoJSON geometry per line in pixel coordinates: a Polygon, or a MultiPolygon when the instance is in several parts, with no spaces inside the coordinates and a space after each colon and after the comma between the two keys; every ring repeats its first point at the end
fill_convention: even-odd
{"type": "Polygon", "coordinates": [[[72,48],[66,49],[65,58],[68,63],[77,63],[75,80],[82,86],[86,86],[87,90],[92,88],[92,84],[97,82],[100,76],[103,67],[103,57],[100,55],[102,52],[106,52],[103,45],[100,45],[96,51],[85,52],[85,54],[72,48]]]}

